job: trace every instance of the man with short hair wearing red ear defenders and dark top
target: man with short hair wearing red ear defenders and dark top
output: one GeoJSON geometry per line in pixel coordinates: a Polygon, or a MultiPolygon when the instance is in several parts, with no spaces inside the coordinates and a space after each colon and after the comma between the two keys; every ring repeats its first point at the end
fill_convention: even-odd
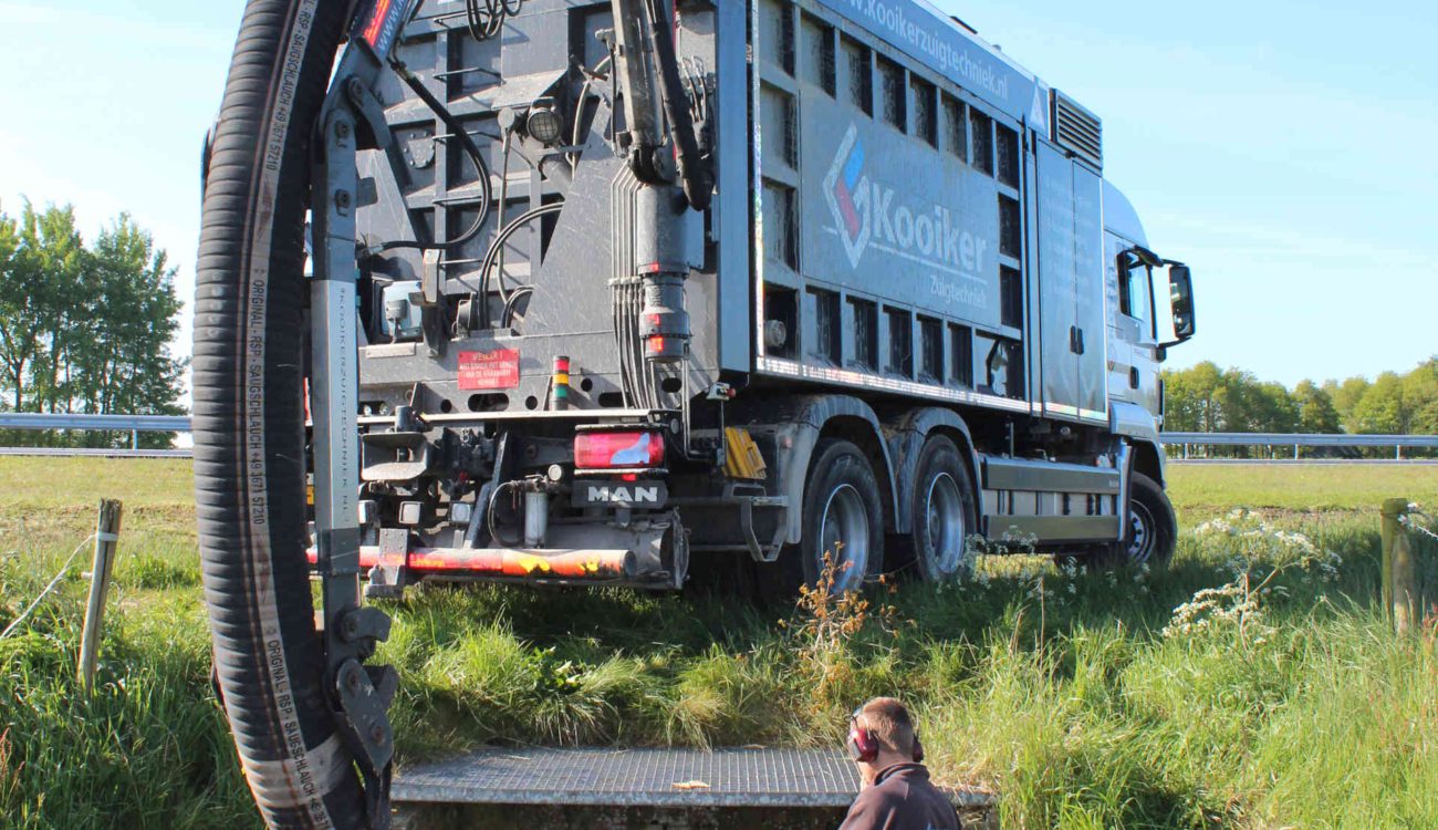
{"type": "Polygon", "coordinates": [[[874,698],[856,709],[846,744],[863,787],[840,830],[959,830],[953,804],[929,783],[903,703],[874,698]]]}

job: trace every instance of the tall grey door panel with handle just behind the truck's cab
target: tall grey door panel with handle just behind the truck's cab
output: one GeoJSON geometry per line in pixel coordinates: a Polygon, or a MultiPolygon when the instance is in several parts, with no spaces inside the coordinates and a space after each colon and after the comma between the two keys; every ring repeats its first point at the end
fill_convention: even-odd
{"type": "Polygon", "coordinates": [[[1107,420],[1103,181],[1047,141],[1037,155],[1044,414],[1107,420]]]}

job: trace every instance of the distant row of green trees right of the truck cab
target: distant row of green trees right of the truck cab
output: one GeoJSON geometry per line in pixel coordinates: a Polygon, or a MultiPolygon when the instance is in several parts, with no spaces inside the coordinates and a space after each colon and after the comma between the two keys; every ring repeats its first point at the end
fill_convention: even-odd
{"type": "Polygon", "coordinates": [[[1171,432],[1438,434],[1438,355],[1403,374],[1306,380],[1291,390],[1206,361],[1165,371],[1163,384],[1171,432]]]}

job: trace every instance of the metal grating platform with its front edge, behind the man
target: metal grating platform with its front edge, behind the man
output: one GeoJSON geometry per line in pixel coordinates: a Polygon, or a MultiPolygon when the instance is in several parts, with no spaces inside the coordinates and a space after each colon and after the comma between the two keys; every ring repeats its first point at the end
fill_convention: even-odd
{"type": "MultiPolygon", "coordinates": [[[[827,749],[486,748],[398,771],[406,827],[834,827],[858,774],[827,749]],[[782,820],[779,818],[782,816],[782,820]]],[[[965,827],[997,827],[997,800],[948,790],[965,827]]]]}

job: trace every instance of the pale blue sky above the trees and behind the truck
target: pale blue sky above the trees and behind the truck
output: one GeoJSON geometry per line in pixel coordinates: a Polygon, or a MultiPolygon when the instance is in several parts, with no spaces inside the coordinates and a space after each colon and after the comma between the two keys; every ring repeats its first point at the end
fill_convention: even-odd
{"type": "MultiPolygon", "coordinates": [[[[1150,247],[1194,268],[1199,335],[1169,365],[1293,386],[1438,354],[1438,7],[935,4],[1103,118],[1106,177],[1150,247]]],[[[188,299],[200,147],[242,12],[0,0],[0,210],[69,203],[89,236],[129,211],[188,299]]]]}

